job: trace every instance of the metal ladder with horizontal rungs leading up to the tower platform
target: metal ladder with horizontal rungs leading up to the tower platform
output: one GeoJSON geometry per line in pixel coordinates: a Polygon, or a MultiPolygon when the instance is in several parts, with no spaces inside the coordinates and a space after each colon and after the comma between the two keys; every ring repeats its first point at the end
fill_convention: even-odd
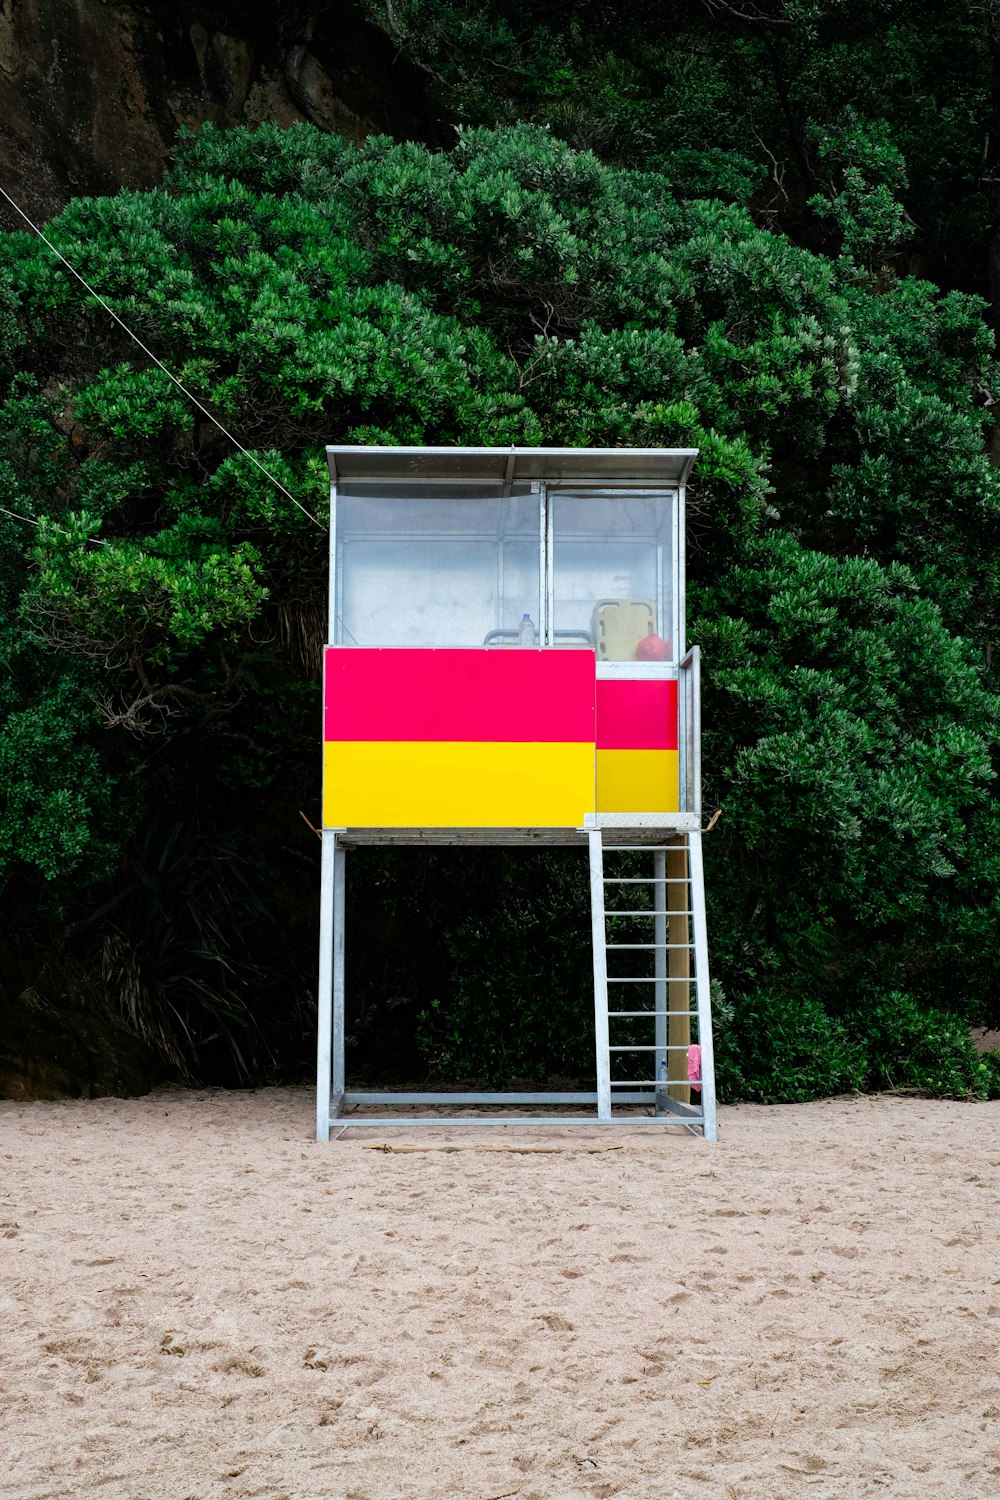
{"type": "Polygon", "coordinates": [[[700,830],[652,844],[606,837],[588,831],[597,1118],[649,1104],[666,1125],[717,1140],[700,830]]]}

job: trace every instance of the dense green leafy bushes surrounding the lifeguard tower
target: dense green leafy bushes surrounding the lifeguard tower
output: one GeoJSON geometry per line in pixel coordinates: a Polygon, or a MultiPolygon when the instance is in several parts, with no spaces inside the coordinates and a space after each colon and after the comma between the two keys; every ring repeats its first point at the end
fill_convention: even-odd
{"type": "MultiPolygon", "coordinates": [[[[0,861],[24,942],[99,963],[114,912],[135,993],[159,1004],[135,860],[148,830],[183,825],[226,888],[199,1004],[180,1006],[205,1047],[160,1036],[163,1010],[148,1034],[189,1072],[201,1056],[219,1076],[217,1035],[255,1077],[268,1056],[298,1065],[322,444],[691,442],[726,1088],[975,1088],[957,1022],[934,1017],[997,1014],[991,339],[975,298],[886,270],[898,216],[838,212],[841,254],[822,256],[541,128],[472,129],[447,153],[204,129],[162,190],[73,202],[55,243],[298,506],[46,249],[7,237],[0,861]],[[904,1014],[898,993],[912,1023],[873,1030],[904,1014]]],[[[384,858],[357,868],[364,944],[399,898],[384,858]]],[[[484,906],[445,856],[433,868],[435,962],[385,972],[400,1048],[451,1074],[586,1071],[576,878],[487,862],[484,906]]],[[[163,922],[202,874],[183,862],[157,886],[163,922]]],[[[351,963],[382,1014],[381,951],[351,963]]]]}

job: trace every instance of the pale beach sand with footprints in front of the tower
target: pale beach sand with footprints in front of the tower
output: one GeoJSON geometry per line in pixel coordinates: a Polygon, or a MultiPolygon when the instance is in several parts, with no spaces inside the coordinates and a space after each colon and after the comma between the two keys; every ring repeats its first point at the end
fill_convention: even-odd
{"type": "Polygon", "coordinates": [[[4,1500],[1000,1496],[1000,1104],[310,1116],[0,1104],[4,1500]]]}

